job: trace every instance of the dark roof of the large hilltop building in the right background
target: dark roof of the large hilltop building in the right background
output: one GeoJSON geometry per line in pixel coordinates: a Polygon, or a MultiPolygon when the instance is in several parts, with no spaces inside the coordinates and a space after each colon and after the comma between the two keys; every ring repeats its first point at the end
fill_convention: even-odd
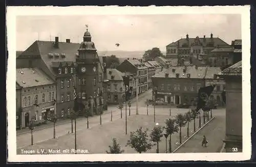
{"type": "Polygon", "coordinates": [[[181,39],[177,40],[176,42],[172,42],[172,43],[168,44],[167,46],[178,46],[178,44],[179,44],[179,47],[182,47],[183,44],[188,43],[187,47],[190,47],[191,44],[193,44],[195,42],[195,39],[199,39],[200,43],[203,46],[207,46],[207,44],[209,44],[211,42],[214,43],[213,47],[218,46],[218,45],[228,45],[228,43],[224,42],[222,39],[220,39],[218,37],[218,38],[205,38],[205,39],[204,38],[188,38],[188,40],[186,38],[181,38],[181,39]]]}

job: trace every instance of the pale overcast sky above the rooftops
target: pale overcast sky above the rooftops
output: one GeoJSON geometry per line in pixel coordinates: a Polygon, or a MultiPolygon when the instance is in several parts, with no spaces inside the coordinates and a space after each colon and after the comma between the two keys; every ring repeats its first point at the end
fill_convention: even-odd
{"type": "Polygon", "coordinates": [[[166,15],[84,15],[17,16],[16,50],[24,51],[35,40],[81,42],[86,26],[98,51],[145,51],[165,46],[188,33],[190,38],[210,33],[231,44],[241,39],[239,14],[166,14],[166,15]],[[117,47],[115,43],[120,43],[117,47]]]}

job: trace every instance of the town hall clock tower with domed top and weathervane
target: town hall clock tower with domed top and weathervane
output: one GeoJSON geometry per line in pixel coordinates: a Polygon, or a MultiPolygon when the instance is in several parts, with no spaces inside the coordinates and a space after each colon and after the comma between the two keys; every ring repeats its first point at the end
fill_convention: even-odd
{"type": "Polygon", "coordinates": [[[76,56],[78,101],[89,106],[91,113],[99,112],[102,92],[102,67],[90,32],[83,35],[83,41],[76,56]]]}

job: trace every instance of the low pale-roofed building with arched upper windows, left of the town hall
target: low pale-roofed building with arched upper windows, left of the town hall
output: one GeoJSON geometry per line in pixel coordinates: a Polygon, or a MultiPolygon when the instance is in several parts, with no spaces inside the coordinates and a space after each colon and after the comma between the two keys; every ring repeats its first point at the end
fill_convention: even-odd
{"type": "Polygon", "coordinates": [[[28,127],[32,119],[35,122],[47,121],[51,114],[56,114],[56,86],[42,70],[39,68],[16,69],[16,83],[21,87],[20,125],[22,128],[28,127]]]}

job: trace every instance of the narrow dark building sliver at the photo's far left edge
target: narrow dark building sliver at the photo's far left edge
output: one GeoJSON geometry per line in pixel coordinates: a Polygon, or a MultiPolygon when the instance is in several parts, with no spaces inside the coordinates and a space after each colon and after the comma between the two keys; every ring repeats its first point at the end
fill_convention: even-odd
{"type": "Polygon", "coordinates": [[[16,129],[22,128],[22,87],[16,82],[16,129]]]}

